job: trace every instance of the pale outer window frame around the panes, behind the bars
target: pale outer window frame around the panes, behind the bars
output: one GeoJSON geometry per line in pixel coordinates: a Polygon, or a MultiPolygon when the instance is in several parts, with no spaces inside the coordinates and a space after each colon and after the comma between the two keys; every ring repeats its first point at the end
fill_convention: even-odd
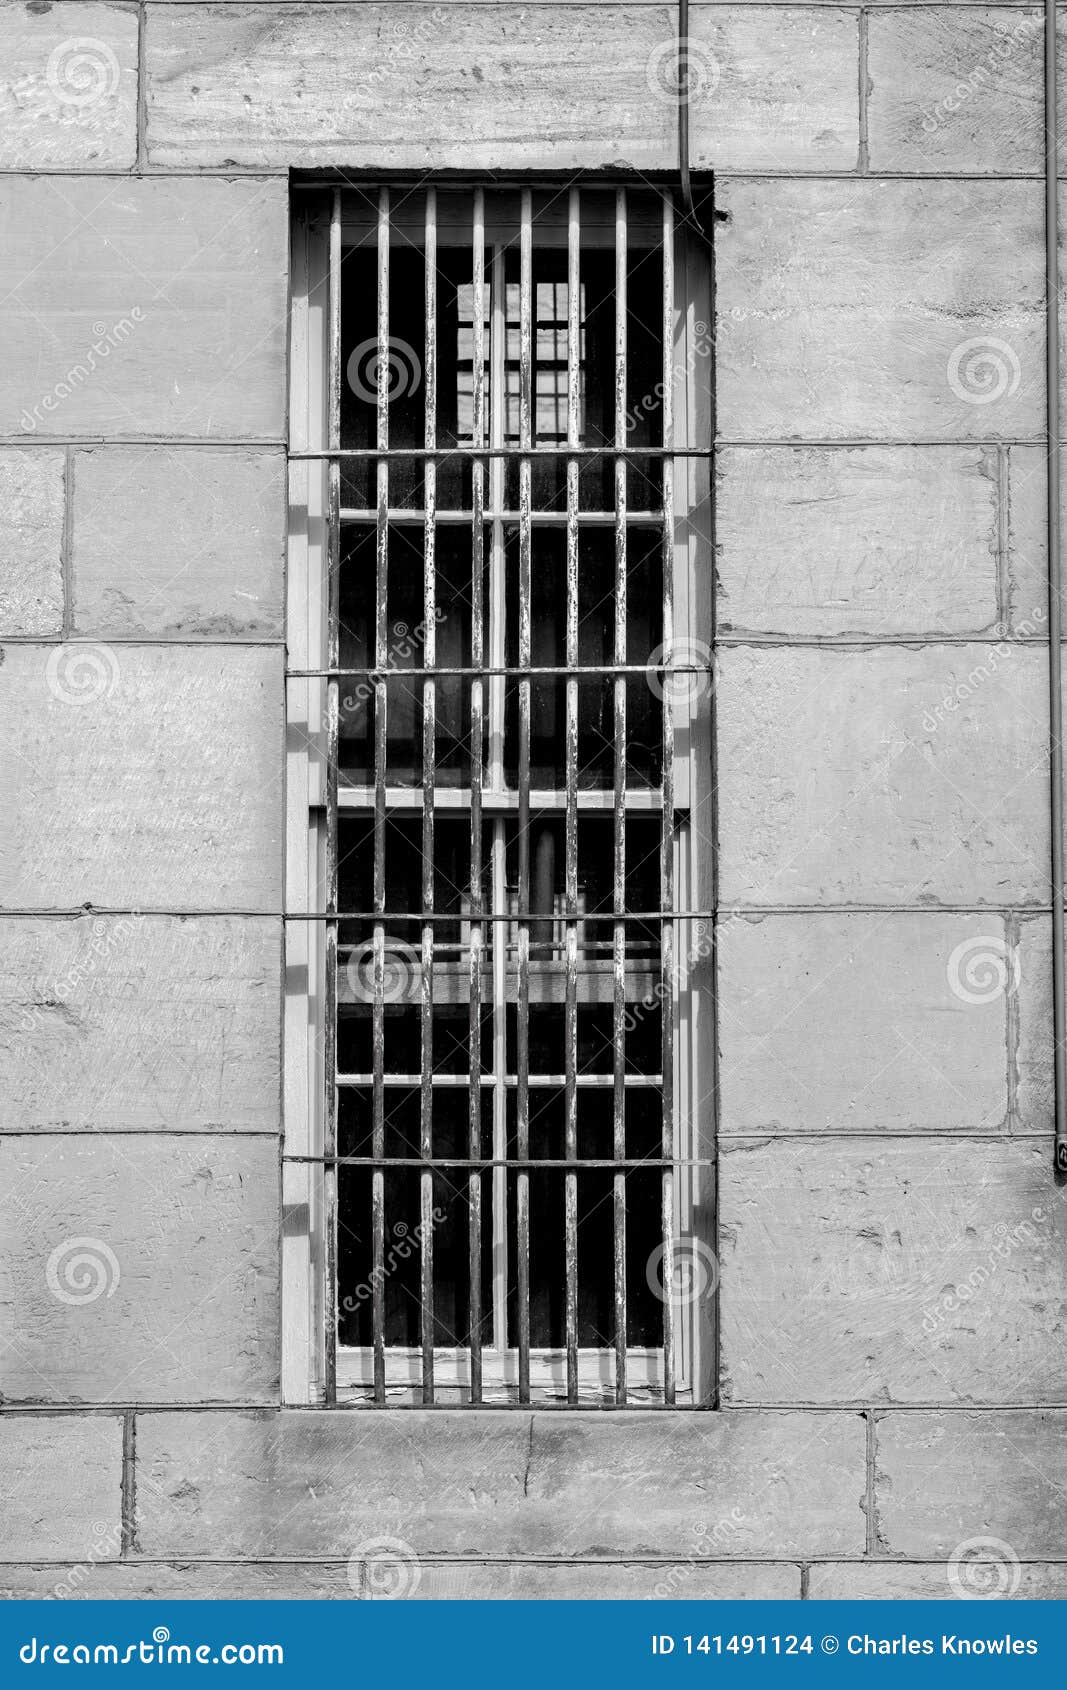
{"type": "MultiPolygon", "coordinates": [[[[309,184],[311,186],[311,184],[309,184]]],[[[377,179],[375,179],[377,186],[377,179]]],[[[451,186],[451,184],[450,184],[451,186]]],[[[492,184],[480,184],[492,186],[492,184]]],[[[616,177],[583,177],[582,186],[619,186],[616,177]]],[[[626,181],[644,191],[641,181],[626,181]]],[[[326,1327],[337,1262],[328,1240],[330,1181],[337,1169],[323,1163],[325,1061],[328,1038],[325,990],[326,933],[323,909],[325,837],[316,811],[326,799],[326,683],[291,671],[326,664],[325,580],[330,556],[328,353],[330,353],[330,198],[316,184],[294,196],[291,264],[289,368],[289,537],[287,537],[287,679],[286,679],[286,982],[284,982],[284,1144],[282,1144],[282,1401],[287,1404],[355,1403],[365,1399],[370,1350],[335,1347],[326,1327]],[[320,455],[306,460],[299,453],[320,455]]],[[[676,203],[676,194],[675,194],[676,203]]],[[[714,382],[710,368],[712,259],[710,250],[675,220],[675,333],[671,399],[680,455],[673,460],[675,493],[675,646],[714,651],[714,586],[710,561],[714,382]],[[678,282],[681,286],[678,286],[678,282]],[[703,324],[703,336],[697,324],[703,324]],[[698,453],[698,444],[707,451],[698,453]],[[692,448],[687,453],[687,448],[692,448]],[[702,634],[695,632],[702,630],[702,634]]],[[[605,453],[610,456],[610,451],[605,453]]],[[[516,453],[517,456],[517,453],[516,453]]],[[[489,657],[492,662],[494,659],[489,657]]],[[[714,788],[712,708],[673,706],[675,722],[675,909],[714,908],[714,788]],[[683,747],[687,747],[683,754],[683,747]],[[698,774],[697,774],[698,771],[698,774]],[[698,816],[698,823],[693,816],[698,816]],[[683,842],[683,835],[688,840],[683,842]]],[[[607,928],[610,931],[610,924],[607,928]]],[[[675,1171],[671,1180],[676,1239],[690,1237],[714,1261],[714,957],[710,928],[673,921],[678,970],[673,977],[675,1171]]],[[[335,1202],[335,1197],[333,1197],[335,1202]]],[[[697,1262],[697,1268],[700,1262],[697,1262]]],[[[714,1284],[710,1286],[714,1293],[714,1284]]],[[[709,1406],[714,1387],[714,1308],[680,1293],[673,1298],[676,1332],[675,1404],[709,1406]]],[[[656,1357],[661,1349],[627,1349],[627,1406],[665,1406],[656,1399],[656,1357]],[[644,1393],[644,1396],[641,1394],[644,1393]]],[[[514,1401],[517,1352],[482,1349],[485,1401],[514,1401]]],[[[402,1381],[416,1393],[421,1350],[389,1349],[391,1387],[402,1381]]],[[[602,1406],[614,1382],[614,1349],[578,1352],[578,1406],[602,1406]]],[[[661,1372],[661,1369],[659,1369],[661,1372]]],[[[563,1350],[531,1349],[529,1382],[534,1401],[565,1398],[563,1350]]],[[[435,1350],[440,1406],[458,1406],[470,1379],[470,1352],[435,1350]]],[[[659,1379],[661,1384],[661,1379],[659,1379]]],[[[392,1393],[396,1394],[396,1393],[392,1393]]]]}

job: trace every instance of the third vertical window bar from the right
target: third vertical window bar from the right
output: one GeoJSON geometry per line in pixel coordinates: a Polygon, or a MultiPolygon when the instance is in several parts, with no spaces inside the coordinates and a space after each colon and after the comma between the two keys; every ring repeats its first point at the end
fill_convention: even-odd
{"type": "MultiPolygon", "coordinates": [[[[566,444],[580,446],[582,303],[580,254],[582,211],[577,188],[566,208],[566,444]]],[[[578,662],[578,460],[566,460],[566,666],[578,662]]],[[[578,1158],[578,679],[566,676],[566,985],[565,985],[565,1156],[578,1158]]],[[[566,1401],[578,1401],[578,1175],[563,1175],[565,1261],[566,1261],[566,1401]]]]}

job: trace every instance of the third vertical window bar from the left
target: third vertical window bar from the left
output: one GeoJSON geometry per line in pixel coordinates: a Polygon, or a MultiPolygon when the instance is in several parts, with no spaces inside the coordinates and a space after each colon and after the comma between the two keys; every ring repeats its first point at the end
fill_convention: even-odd
{"type": "MultiPolygon", "coordinates": [[[[438,194],[426,189],[426,358],[423,363],[426,419],[423,439],[436,446],[438,402],[438,194]]],[[[438,470],[433,458],[424,466],[423,529],[423,662],[436,662],[436,490],[438,470]]],[[[423,911],[433,911],[433,798],[436,776],[436,681],[423,679],[423,911]]],[[[421,970],[421,1090],[419,1156],[433,1158],[433,921],[423,921],[421,970]]],[[[419,1303],[423,1327],[423,1401],[433,1403],[433,1173],[419,1175],[419,1303]]]]}

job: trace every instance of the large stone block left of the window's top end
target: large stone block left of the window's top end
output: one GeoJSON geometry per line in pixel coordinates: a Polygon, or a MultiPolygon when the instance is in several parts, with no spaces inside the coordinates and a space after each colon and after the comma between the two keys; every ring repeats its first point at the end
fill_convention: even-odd
{"type": "Polygon", "coordinates": [[[10,176],[0,218],[2,434],[284,434],[284,183],[10,176]]]}

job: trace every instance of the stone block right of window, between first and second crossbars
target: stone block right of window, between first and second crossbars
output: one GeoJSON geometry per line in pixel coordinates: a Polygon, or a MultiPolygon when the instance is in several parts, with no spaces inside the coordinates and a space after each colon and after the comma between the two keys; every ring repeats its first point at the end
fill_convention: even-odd
{"type": "Polygon", "coordinates": [[[719,625],[979,634],[998,620],[988,446],[764,446],[717,456],[719,625]]]}

